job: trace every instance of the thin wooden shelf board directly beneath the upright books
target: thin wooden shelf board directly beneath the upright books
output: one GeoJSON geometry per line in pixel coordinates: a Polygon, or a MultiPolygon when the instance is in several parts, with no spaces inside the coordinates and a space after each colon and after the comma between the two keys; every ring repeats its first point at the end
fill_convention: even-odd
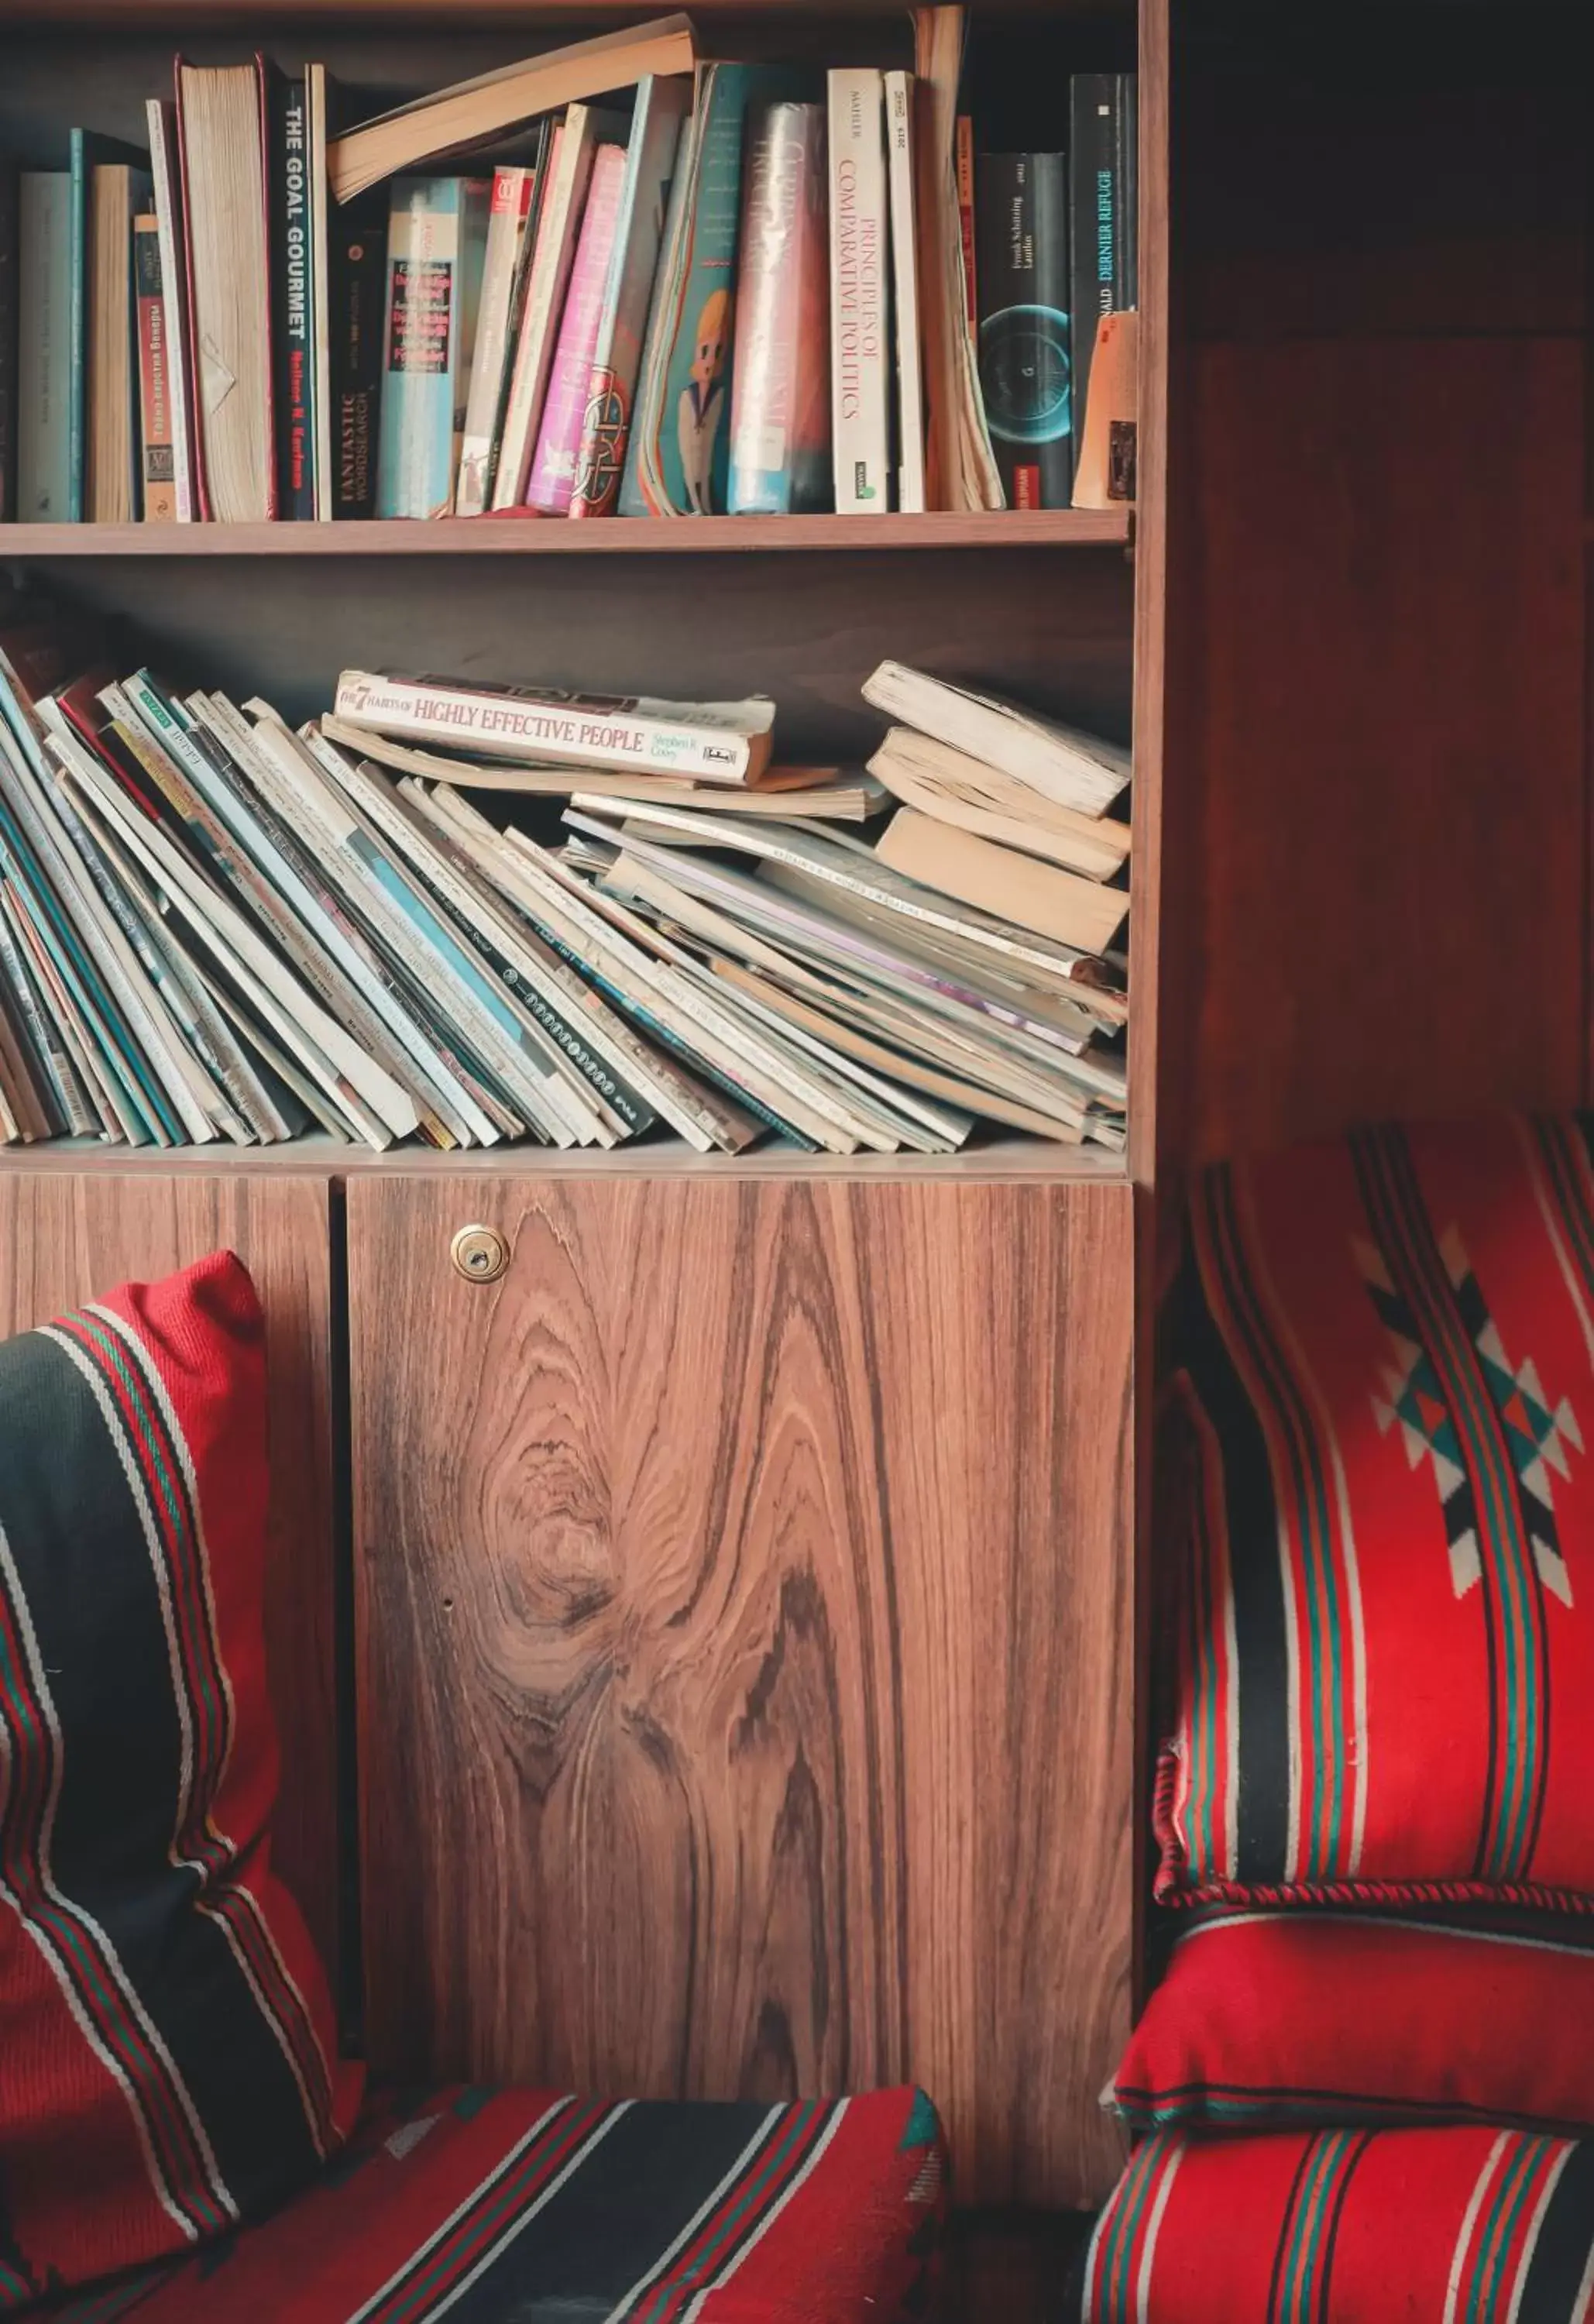
{"type": "Polygon", "coordinates": [[[0,558],[725,555],[792,548],[1122,548],[1127,509],[932,516],[439,518],[365,525],[0,525],[0,558]]]}

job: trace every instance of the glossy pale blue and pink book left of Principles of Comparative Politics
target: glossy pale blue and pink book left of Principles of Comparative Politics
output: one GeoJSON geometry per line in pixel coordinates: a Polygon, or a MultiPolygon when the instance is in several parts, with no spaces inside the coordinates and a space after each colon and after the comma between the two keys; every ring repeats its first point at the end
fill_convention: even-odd
{"type": "Polygon", "coordinates": [[[727,502],[788,516],[830,502],[825,109],[760,107],[746,167],[727,502]]]}

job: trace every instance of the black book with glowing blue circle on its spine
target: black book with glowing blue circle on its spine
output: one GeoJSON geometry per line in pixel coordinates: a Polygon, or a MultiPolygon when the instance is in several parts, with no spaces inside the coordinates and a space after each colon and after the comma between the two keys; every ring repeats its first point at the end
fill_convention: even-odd
{"type": "Polygon", "coordinates": [[[1069,172],[1062,153],[981,153],[981,390],[1008,509],[1067,509],[1069,172]]]}

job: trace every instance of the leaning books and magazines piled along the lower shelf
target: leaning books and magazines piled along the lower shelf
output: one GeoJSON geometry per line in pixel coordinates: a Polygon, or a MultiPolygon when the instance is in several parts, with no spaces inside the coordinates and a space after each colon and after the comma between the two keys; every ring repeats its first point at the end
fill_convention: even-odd
{"type": "Polygon", "coordinates": [[[321,718],[0,609],[0,1136],[1125,1141],[1127,751],[885,662],[767,700],[344,672],[321,718]]]}

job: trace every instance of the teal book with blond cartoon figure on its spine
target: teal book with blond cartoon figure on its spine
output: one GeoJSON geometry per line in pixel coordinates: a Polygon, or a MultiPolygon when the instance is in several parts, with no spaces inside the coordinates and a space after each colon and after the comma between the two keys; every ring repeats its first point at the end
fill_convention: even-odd
{"type": "Polygon", "coordinates": [[[781,65],[699,65],[641,358],[620,516],[725,511],[748,105],[811,93],[781,65]]]}

